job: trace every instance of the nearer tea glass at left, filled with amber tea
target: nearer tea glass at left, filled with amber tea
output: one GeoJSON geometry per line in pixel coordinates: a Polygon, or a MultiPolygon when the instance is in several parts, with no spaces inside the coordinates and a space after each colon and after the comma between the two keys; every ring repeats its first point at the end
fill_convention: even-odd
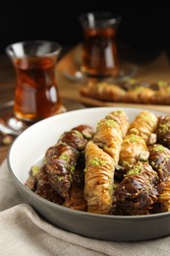
{"type": "Polygon", "coordinates": [[[62,108],[55,66],[61,45],[34,40],[13,43],[6,48],[16,70],[14,114],[21,120],[38,121],[62,108]]]}

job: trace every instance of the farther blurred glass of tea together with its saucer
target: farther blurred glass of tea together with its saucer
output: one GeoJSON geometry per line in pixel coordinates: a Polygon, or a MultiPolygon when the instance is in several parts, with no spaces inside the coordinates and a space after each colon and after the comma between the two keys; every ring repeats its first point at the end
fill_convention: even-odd
{"type": "Polygon", "coordinates": [[[85,13],[79,17],[83,47],[74,54],[66,77],[74,82],[105,80],[123,82],[137,74],[137,66],[119,59],[117,32],[121,16],[111,12],[85,13]]]}

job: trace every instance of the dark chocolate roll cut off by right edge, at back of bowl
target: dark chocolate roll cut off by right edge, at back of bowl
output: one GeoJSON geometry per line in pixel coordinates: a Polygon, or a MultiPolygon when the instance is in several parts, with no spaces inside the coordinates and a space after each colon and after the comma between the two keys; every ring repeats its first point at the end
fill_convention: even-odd
{"type": "Polygon", "coordinates": [[[158,117],[157,143],[170,149],[170,116],[158,117]]]}

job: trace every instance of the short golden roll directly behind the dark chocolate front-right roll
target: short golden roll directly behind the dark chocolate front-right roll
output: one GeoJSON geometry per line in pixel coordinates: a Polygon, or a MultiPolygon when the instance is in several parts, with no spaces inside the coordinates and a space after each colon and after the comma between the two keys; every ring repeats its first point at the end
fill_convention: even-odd
{"type": "Polygon", "coordinates": [[[148,150],[142,137],[126,135],[120,151],[119,164],[126,170],[130,169],[138,160],[148,159],[148,150]]]}

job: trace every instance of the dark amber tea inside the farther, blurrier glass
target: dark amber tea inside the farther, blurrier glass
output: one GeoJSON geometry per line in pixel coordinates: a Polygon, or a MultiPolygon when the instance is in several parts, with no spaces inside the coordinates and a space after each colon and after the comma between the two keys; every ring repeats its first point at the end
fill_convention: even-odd
{"type": "Polygon", "coordinates": [[[82,71],[89,76],[116,76],[119,60],[115,31],[107,29],[86,29],[82,71]]]}

